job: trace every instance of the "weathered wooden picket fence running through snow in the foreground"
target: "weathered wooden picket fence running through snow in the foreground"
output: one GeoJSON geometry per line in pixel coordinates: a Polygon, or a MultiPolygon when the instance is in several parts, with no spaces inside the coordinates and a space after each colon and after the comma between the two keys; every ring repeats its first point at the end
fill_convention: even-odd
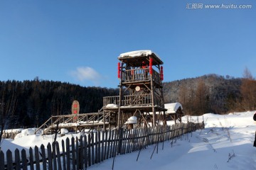
{"type": "Polygon", "coordinates": [[[116,157],[117,154],[127,154],[149,145],[174,139],[188,132],[204,128],[203,123],[178,123],[171,126],[127,130],[106,130],[90,132],[80,137],[72,137],[30,148],[26,153],[16,149],[14,153],[7,150],[6,155],[0,152],[0,170],[4,169],[87,169],[87,167],[116,157]]]}

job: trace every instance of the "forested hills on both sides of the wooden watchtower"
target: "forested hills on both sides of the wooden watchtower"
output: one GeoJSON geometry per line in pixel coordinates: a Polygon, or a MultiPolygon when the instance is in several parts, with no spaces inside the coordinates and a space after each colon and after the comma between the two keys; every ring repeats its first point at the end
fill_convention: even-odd
{"type": "MultiPolygon", "coordinates": [[[[248,69],[242,78],[208,74],[163,83],[164,102],[179,102],[186,115],[225,114],[256,110],[256,80],[248,69]]],[[[5,128],[38,127],[51,115],[71,113],[74,100],[80,113],[102,108],[102,97],[119,89],[84,87],[60,81],[0,81],[0,123],[5,128]]]]}

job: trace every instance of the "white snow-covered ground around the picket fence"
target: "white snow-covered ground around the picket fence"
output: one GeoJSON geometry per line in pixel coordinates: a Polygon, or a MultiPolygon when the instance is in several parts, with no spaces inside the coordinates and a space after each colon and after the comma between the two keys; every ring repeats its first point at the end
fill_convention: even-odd
{"type": "MultiPolygon", "coordinates": [[[[114,159],[114,169],[256,169],[256,147],[252,147],[256,130],[256,124],[252,120],[254,113],[255,111],[184,116],[184,122],[204,120],[206,128],[164,144],[159,143],[158,153],[154,151],[155,146],[151,145],[140,153],[118,155],[114,159]]],[[[58,137],[58,140],[65,137],[58,137]]],[[[7,149],[28,149],[34,145],[47,145],[52,141],[51,136],[26,135],[16,140],[2,141],[1,149],[4,152],[7,149]]],[[[88,169],[112,169],[112,164],[113,158],[88,169]]]]}

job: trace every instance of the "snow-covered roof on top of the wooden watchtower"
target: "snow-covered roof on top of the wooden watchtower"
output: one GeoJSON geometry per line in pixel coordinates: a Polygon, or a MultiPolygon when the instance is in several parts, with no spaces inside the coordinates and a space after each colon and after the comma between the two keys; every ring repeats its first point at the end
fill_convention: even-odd
{"type": "Polygon", "coordinates": [[[124,63],[132,64],[132,66],[136,67],[140,66],[142,64],[142,61],[148,62],[147,64],[149,64],[149,57],[153,59],[153,65],[164,64],[164,62],[161,61],[159,55],[156,55],[156,53],[151,50],[124,52],[119,55],[118,60],[124,63]]]}

